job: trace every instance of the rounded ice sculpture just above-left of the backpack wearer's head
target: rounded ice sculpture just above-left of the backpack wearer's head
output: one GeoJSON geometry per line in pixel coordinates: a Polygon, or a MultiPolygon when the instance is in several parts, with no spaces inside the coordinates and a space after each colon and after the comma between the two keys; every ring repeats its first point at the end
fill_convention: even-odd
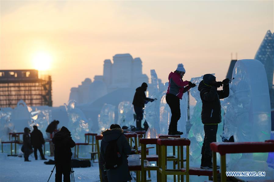
{"type": "Polygon", "coordinates": [[[99,133],[109,129],[111,124],[114,124],[115,106],[111,104],[104,104],[100,115],[98,115],[99,133]]]}

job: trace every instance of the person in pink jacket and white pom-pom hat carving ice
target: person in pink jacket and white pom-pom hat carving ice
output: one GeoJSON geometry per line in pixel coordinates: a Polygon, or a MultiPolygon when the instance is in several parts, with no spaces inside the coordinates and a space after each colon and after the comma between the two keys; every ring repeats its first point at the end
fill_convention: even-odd
{"type": "Polygon", "coordinates": [[[171,121],[169,124],[169,135],[182,135],[183,132],[177,131],[177,122],[181,117],[180,99],[183,93],[187,92],[196,84],[190,81],[183,81],[183,76],[186,73],[183,64],[178,64],[177,69],[169,74],[169,87],[166,92],[165,100],[171,110],[171,121]]]}

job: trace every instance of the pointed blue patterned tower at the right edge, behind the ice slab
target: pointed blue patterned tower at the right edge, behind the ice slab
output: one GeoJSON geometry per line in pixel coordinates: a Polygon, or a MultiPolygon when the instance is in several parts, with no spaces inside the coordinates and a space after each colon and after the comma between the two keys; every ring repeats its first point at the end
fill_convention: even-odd
{"type": "Polygon", "coordinates": [[[273,71],[274,71],[274,33],[268,30],[255,55],[255,59],[262,62],[265,67],[269,87],[271,108],[274,108],[273,71]]]}

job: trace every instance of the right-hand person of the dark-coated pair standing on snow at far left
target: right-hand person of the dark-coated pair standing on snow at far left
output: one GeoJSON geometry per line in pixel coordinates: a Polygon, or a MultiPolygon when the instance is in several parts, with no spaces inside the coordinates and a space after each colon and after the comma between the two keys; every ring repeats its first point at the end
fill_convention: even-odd
{"type": "Polygon", "coordinates": [[[45,140],[42,132],[37,128],[36,125],[33,126],[33,131],[30,133],[30,141],[34,148],[34,157],[37,160],[37,149],[40,152],[42,160],[47,160],[43,154],[42,145],[45,144],[45,140]]]}

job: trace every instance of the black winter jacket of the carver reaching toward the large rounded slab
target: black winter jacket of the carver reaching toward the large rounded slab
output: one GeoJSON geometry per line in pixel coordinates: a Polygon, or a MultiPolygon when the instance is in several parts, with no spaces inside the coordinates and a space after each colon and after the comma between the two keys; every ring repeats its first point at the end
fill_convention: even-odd
{"type": "Polygon", "coordinates": [[[202,100],[201,119],[203,124],[218,124],[222,121],[220,99],[229,96],[229,85],[223,85],[223,90],[208,86],[202,80],[198,86],[202,100]]]}

